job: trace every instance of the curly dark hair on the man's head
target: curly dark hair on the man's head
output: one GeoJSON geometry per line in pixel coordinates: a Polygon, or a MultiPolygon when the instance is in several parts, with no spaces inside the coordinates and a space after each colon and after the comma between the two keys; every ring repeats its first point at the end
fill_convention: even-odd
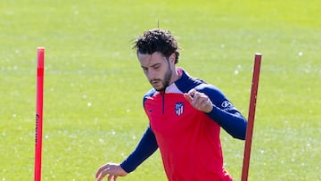
{"type": "Polygon", "coordinates": [[[144,31],[143,35],[136,38],[133,49],[136,53],[152,54],[154,52],[162,53],[166,58],[175,53],[178,62],[179,47],[176,37],[172,36],[169,30],[150,29],[144,31]]]}

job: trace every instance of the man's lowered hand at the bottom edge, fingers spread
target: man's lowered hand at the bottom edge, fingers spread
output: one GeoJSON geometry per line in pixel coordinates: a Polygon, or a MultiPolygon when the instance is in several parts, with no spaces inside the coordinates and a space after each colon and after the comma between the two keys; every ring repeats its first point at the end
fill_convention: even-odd
{"type": "Polygon", "coordinates": [[[99,168],[95,174],[96,181],[101,181],[103,177],[107,177],[108,181],[116,181],[117,177],[124,177],[128,173],[116,163],[107,163],[99,168]]]}

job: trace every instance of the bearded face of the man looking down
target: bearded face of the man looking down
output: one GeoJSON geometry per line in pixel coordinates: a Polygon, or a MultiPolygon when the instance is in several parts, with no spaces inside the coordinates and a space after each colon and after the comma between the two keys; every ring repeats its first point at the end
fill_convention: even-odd
{"type": "Polygon", "coordinates": [[[138,53],[137,56],[146,78],[157,91],[165,90],[175,81],[177,75],[174,66],[175,55],[169,56],[169,59],[159,52],[138,53]]]}

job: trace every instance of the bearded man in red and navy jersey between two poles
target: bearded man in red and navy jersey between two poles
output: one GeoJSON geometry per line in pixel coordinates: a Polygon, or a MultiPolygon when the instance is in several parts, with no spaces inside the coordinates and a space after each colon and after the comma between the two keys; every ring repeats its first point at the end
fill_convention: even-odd
{"type": "Polygon", "coordinates": [[[158,148],[169,181],[230,181],[223,167],[220,128],[245,138],[247,120],[216,86],[177,68],[179,47],[169,31],[151,29],[134,48],[152,90],[144,95],[149,127],[120,164],[98,169],[97,181],[116,180],[136,169],[158,148]]]}

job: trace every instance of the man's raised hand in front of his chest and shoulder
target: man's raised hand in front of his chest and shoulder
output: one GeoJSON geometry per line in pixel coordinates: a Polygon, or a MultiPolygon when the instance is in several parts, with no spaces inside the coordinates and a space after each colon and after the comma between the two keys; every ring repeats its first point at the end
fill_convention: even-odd
{"type": "Polygon", "coordinates": [[[197,92],[195,89],[191,89],[187,94],[185,93],[184,97],[195,109],[199,111],[209,113],[213,109],[209,96],[197,92]]]}

